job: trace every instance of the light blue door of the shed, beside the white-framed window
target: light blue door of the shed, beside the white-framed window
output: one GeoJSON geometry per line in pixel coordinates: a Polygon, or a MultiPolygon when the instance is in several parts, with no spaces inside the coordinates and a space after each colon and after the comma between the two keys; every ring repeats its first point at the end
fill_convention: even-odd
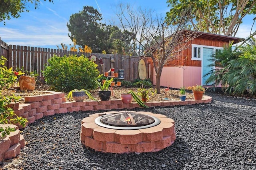
{"type": "Polygon", "coordinates": [[[210,64],[210,61],[208,61],[210,59],[210,56],[213,53],[213,48],[204,48],[203,47],[203,60],[202,60],[202,85],[206,85],[205,81],[208,79],[208,77],[210,77],[210,75],[205,76],[207,73],[209,73],[212,70],[212,67],[208,67],[208,65],[210,64]]]}

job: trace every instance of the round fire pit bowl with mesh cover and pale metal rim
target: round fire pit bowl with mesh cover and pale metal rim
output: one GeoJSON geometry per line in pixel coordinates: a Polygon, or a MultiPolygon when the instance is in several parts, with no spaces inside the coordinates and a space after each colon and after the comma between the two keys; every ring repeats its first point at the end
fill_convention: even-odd
{"type": "Polygon", "coordinates": [[[154,127],[160,122],[161,121],[156,117],[130,111],[123,111],[109,115],[102,114],[95,119],[95,123],[101,127],[121,130],[154,127]]]}

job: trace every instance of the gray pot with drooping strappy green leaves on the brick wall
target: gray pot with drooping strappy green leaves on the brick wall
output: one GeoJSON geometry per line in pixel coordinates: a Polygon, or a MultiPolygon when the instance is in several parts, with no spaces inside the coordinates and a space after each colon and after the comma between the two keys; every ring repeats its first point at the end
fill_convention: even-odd
{"type": "Polygon", "coordinates": [[[92,93],[90,93],[90,91],[92,91],[92,90],[88,90],[88,89],[87,90],[85,90],[85,89],[81,89],[81,90],[74,89],[74,90],[71,90],[70,92],[68,92],[67,98],[68,99],[73,98],[74,101],[81,102],[81,101],[84,101],[84,99],[86,98],[86,95],[87,95],[90,99],[97,101],[92,96],[92,93]]]}

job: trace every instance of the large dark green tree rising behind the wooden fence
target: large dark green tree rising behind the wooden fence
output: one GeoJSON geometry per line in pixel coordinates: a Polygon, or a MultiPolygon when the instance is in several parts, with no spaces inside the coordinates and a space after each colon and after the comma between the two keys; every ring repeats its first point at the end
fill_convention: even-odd
{"type": "Polygon", "coordinates": [[[121,31],[117,26],[106,26],[101,23],[102,15],[91,6],[84,6],[79,13],[70,16],[67,24],[68,36],[77,45],[88,45],[95,53],[123,53],[129,51],[131,33],[121,31]]]}

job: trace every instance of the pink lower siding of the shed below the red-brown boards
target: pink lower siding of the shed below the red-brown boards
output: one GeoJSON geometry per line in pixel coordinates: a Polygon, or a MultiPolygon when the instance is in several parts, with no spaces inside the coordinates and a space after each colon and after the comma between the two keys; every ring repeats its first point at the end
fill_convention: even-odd
{"type": "MultiPolygon", "coordinates": [[[[153,84],[156,85],[156,76],[154,76],[153,84]]],[[[201,67],[164,67],[160,85],[164,87],[170,85],[177,89],[183,86],[201,85],[201,67]]]]}

